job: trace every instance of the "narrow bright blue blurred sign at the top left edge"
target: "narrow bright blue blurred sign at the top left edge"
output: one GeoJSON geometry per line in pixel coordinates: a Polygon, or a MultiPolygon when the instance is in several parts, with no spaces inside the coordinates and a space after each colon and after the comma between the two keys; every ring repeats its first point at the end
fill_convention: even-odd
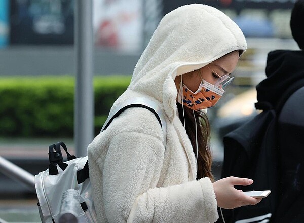
{"type": "Polygon", "coordinates": [[[0,48],[9,42],[9,0],[0,0],[0,48]]]}

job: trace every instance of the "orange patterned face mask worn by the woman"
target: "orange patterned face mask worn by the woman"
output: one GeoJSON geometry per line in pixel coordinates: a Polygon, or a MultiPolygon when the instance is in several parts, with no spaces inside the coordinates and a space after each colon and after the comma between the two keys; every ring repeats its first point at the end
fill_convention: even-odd
{"type": "Polygon", "coordinates": [[[225,91],[207,81],[202,81],[199,89],[192,92],[184,84],[180,84],[178,102],[193,110],[213,107],[225,91]],[[181,87],[182,86],[182,87],[181,87]]]}

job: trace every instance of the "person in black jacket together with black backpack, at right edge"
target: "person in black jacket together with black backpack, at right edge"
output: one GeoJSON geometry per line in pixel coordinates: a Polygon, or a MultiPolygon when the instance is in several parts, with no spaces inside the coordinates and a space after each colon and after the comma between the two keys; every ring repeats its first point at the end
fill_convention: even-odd
{"type": "Polygon", "coordinates": [[[290,28],[300,50],[268,54],[267,78],[257,86],[262,110],[224,137],[221,177],[250,177],[251,188],[272,190],[255,206],[225,210],[226,222],[304,222],[304,0],[294,4],[290,28]]]}

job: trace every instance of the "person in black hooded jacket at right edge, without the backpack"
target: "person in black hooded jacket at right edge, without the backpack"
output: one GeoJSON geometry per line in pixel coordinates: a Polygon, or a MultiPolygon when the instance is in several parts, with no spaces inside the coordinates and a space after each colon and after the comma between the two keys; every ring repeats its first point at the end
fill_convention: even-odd
{"type": "Polygon", "coordinates": [[[278,117],[279,187],[274,222],[304,222],[304,0],[295,2],[290,28],[300,50],[270,52],[267,79],[257,86],[258,100],[275,106],[289,89],[278,117]]]}

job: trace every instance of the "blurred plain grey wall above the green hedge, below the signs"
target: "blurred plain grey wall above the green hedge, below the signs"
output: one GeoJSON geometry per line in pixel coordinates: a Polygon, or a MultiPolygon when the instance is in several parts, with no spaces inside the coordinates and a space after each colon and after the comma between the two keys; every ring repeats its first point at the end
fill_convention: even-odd
{"type": "MultiPolygon", "coordinates": [[[[131,75],[141,52],[96,48],[94,74],[131,75]]],[[[74,75],[72,46],[18,46],[0,50],[0,75],[74,75]]]]}

